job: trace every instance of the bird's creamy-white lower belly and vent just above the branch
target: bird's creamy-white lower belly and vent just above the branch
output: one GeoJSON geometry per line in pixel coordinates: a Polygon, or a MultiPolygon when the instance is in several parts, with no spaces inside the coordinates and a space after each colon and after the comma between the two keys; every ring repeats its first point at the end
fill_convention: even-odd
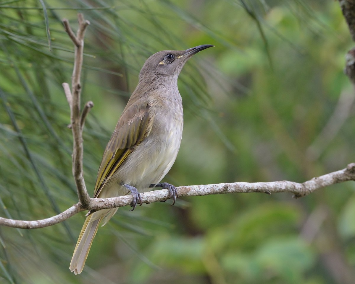
{"type": "MultiPolygon", "coordinates": [[[[162,124],[160,124],[162,125],[162,124]]],[[[114,174],[116,182],[108,183],[100,193],[100,198],[125,195],[129,191],[122,184],[130,184],[138,189],[138,192],[149,191],[149,185],[158,183],[173,166],[178,155],[183,120],[182,115],[170,121],[164,120],[164,127],[153,127],[151,133],[122,163],[114,174]]]]}

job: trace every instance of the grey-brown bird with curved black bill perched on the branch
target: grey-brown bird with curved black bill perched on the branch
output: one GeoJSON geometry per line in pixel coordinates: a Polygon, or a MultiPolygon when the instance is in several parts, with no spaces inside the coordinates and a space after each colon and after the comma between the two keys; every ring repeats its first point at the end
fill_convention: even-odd
{"type": "MultiPolygon", "coordinates": [[[[132,210],[142,204],[141,192],[152,187],[169,191],[173,204],[176,187],[160,181],[173,166],[183,129],[182,98],[178,76],[189,58],[213,45],[187,50],[164,50],[150,56],[104,150],[94,198],[133,195],[132,210]]],[[[172,205],[173,205],[172,204],[172,205]]],[[[70,270],[83,271],[99,224],[104,226],[118,208],[89,211],[78,237],[70,270]]]]}

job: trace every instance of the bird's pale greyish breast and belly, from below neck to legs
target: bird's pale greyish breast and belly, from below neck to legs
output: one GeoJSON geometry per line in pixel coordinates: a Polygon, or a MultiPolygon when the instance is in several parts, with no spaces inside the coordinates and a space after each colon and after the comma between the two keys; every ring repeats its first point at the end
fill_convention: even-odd
{"type": "Polygon", "coordinates": [[[147,191],[151,183],[158,183],[173,166],[179,152],[183,112],[179,95],[176,100],[160,100],[150,104],[151,130],[140,144],[132,149],[125,165],[117,172],[118,180],[147,191]]]}

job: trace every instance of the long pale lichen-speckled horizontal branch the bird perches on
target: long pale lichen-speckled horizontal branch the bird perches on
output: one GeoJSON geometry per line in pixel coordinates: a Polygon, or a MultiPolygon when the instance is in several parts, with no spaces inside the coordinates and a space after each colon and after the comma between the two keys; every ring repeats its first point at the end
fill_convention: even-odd
{"type": "MultiPolygon", "coordinates": [[[[317,189],[345,181],[355,181],[355,163],[349,164],[345,169],[331,172],[329,174],[312,178],[312,180],[304,183],[297,183],[292,181],[274,181],[274,182],[235,182],[235,183],[219,183],[207,184],[199,186],[181,186],[177,187],[179,197],[183,196],[201,196],[210,194],[224,194],[224,193],[250,193],[250,192],[264,192],[264,193],[279,193],[288,192],[293,193],[295,198],[308,195],[317,189]]],[[[160,189],[157,191],[141,193],[143,203],[152,203],[156,201],[163,201],[169,198],[168,189],[160,189]]],[[[121,197],[111,198],[92,198],[91,202],[85,207],[80,203],[73,205],[63,213],[37,221],[20,221],[0,218],[0,225],[34,229],[51,226],[61,221],[68,219],[77,212],[84,210],[101,210],[127,206],[132,203],[132,195],[125,195],[121,197]]]]}

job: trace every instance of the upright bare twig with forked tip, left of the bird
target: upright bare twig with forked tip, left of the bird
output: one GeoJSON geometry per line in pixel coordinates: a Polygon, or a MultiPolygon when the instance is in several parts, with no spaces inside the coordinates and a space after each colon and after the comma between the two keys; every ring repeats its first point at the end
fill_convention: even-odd
{"type": "MultiPolygon", "coordinates": [[[[89,21],[85,21],[82,14],[78,14],[79,27],[77,35],[73,33],[70,28],[69,21],[63,20],[66,32],[70,36],[73,44],[75,45],[75,59],[74,68],[71,82],[71,107],[70,107],[70,122],[73,133],[73,176],[75,179],[76,187],[78,190],[79,203],[83,207],[87,207],[90,203],[90,196],[86,190],[84,176],[83,176],[83,139],[80,115],[80,75],[83,64],[83,48],[84,48],[84,35],[89,21]]],[[[66,88],[66,87],[65,87],[66,88]]],[[[67,91],[66,91],[67,92],[67,91]]],[[[67,94],[66,94],[67,96],[67,94]]]]}

